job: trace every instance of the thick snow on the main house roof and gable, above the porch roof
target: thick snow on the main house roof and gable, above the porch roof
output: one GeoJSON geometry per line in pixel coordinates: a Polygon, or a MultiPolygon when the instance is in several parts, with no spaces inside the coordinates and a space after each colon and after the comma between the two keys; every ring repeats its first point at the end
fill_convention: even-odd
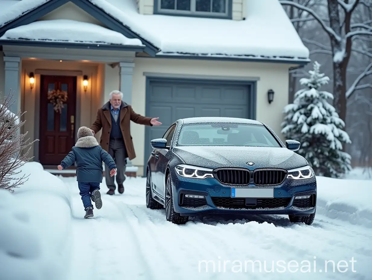
{"type": "MultiPolygon", "coordinates": [[[[0,14],[0,28],[50,0],[22,0],[0,14]]],[[[134,0],[86,0],[151,42],[157,55],[309,61],[309,50],[278,0],[244,0],[245,20],[141,15],[134,0]]]]}

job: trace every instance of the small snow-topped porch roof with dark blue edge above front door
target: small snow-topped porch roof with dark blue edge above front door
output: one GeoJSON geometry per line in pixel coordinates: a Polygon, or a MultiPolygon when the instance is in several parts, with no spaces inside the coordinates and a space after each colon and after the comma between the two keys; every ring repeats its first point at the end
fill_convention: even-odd
{"type": "Polygon", "coordinates": [[[140,39],[127,38],[123,34],[75,20],[40,20],[7,30],[0,37],[3,45],[33,45],[93,49],[144,51],[140,39]]]}

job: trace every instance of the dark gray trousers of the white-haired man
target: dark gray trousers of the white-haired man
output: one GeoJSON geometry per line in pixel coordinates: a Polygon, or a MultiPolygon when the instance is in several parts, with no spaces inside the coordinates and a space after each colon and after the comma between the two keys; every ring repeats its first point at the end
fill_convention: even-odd
{"type": "Polygon", "coordinates": [[[115,190],[115,176],[116,183],[118,183],[118,185],[124,183],[125,181],[126,158],[128,157],[128,154],[126,152],[124,140],[110,139],[108,153],[115,161],[116,175],[110,177],[109,167],[105,164],[106,185],[109,189],[115,190]]]}

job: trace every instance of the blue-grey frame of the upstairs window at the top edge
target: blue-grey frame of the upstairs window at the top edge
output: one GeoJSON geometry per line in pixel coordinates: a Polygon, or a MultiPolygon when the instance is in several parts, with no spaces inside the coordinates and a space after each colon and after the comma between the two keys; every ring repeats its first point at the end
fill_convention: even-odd
{"type": "MultiPolygon", "coordinates": [[[[174,15],[185,15],[185,16],[200,16],[200,17],[222,17],[222,18],[228,18],[230,15],[230,1],[231,0],[225,0],[225,13],[216,13],[216,12],[198,12],[196,11],[196,0],[190,0],[190,10],[177,10],[177,0],[174,0],[174,10],[171,9],[162,9],[161,8],[161,1],[157,0],[157,12],[159,14],[174,14],[174,15]]],[[[211,6],[212,6],[212,1],[211,6]]],[[[212,7],[211,7],[212,9],[212,7]]]]}

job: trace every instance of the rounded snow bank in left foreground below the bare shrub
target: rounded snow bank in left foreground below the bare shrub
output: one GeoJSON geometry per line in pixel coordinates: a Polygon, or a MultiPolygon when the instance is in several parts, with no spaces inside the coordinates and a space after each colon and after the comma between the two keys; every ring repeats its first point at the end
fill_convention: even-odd
{"type": "Polygon", "coordinates": [[[38,162],[21,168],[28,181],[0,192],[0,279],[62,280],[70,265],[71,200],[59,178],[38,162]]]}

